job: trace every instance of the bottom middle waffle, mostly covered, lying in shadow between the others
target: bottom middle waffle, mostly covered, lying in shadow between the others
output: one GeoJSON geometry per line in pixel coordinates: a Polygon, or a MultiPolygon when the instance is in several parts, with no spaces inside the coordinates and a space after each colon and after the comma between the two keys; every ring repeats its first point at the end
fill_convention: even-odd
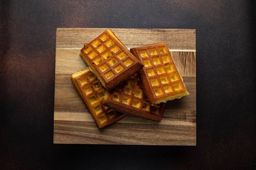
{"type": "Polygon", "coordinates": [[[126,82],[111,90],[104,97],[102,103],[109,108],[128,115],[161,121],[165,104],[161,103],[152,106],[145,98],[139,78],[135,74],[126,82]]]}

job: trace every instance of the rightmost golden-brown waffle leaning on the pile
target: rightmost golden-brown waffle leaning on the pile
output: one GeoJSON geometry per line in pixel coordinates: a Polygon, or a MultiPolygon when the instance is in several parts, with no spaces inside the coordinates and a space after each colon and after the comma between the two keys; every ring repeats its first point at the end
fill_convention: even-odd
{"type": "Polygon", "coordinates": [[[130,51],[144,64],[143,69],[139,71],[139,78],[151,104],[189,95],[167,43],[141,46],[130,51]]]}

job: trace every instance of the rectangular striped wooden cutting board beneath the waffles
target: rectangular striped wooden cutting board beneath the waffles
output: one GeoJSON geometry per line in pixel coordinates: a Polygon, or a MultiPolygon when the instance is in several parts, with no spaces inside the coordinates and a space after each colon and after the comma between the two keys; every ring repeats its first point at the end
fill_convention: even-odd
{"type": "Polygon", "coordinates": [[[167,42],[190,95],[168,101],[161,122],[126,116],[99,130],[70,75],[87,67],[79,52],[106,29],[57,28],[54,144],[196,145],[194,29],[112,29],[128,48],[167,42]]]}

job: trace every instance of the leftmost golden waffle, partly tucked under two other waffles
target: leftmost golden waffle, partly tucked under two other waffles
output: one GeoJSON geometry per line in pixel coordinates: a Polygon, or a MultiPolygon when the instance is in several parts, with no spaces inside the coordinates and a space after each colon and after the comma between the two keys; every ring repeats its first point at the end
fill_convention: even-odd
{"type": "Polygon", "coordinates": [[[105,88],[101,86],[99,80],[89,70],[89,68],[72,74],[70,78],[76,90],[79,92],[86,106],[90,110],[90,113],[92,114],[92,117],[99,129],[102,129],[126,116],[125,114],[118,113],[101,104],[101,100],[105,95],[105,88]]]}

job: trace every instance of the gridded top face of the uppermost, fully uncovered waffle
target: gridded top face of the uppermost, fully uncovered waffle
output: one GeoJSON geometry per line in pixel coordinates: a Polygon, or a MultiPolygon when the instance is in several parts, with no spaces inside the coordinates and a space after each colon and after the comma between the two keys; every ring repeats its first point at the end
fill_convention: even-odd
{"type": "Polygon", "coordinates": [[[137,62],[107,31],[86,44],[82,51],[105,82],[111,81],[137,62]]]}

